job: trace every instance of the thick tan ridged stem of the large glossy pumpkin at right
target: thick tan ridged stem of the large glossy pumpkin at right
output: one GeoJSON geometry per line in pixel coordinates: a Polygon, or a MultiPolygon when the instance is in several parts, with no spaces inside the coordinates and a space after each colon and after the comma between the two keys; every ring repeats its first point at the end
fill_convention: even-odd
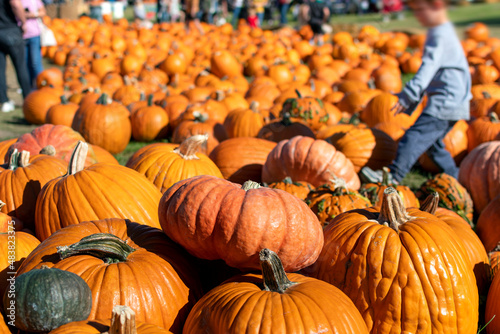
{"type": "Polygon", "coordinates": [[[411,219],[412,217],[406,213],[403,200],[399,196],[397,190],[392,187],[385,189],[382,206],[380,207],[380,214],[378,216],[379,224],[390,226],[398,232],[399,226],[411,219]]]}

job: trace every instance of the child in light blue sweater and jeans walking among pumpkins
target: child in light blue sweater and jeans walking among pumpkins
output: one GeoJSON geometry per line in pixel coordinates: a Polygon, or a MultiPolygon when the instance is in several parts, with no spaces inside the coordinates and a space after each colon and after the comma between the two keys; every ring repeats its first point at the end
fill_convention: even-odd
{"type": "MultiPolygon", "coordinates": [[[[458,168],[443,144],[444,136],[461,119],[468,120],[471,99],[469,66],[453,24],[448,20],[445,0],[413,0],[410,4],[418,21],[429,28],[422,66],[393,107],[395,114],[411,112],[424,93],[428,101],[415,124],[406,131],[396,158],[389,167],[393,181],[401,181],[425,152],[440,169],[455,178],[458,168]]],[[[382,171],[364,167],[365,182],[379,182],[382,171]]]]}

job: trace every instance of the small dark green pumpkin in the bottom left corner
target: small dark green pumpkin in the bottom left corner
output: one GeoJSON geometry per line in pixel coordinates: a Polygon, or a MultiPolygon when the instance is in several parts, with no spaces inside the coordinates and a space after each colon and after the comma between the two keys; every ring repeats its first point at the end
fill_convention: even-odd
{"type": "Polygon", "coordinates": [[[15,325],[21,330],[47,332],[90,314],[92,293],[74,273],[42,266],[18,275],[13,288],[4,295],[3,306],[14,305],[15,325]]]}

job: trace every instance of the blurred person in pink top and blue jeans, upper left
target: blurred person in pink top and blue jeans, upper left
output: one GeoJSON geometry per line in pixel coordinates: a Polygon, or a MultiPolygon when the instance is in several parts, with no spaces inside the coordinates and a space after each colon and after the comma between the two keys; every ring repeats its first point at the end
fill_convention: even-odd
{"type": "Polygon", "coordinates": [[[36,77],[43,71],[42,47],[40,45],[40,26],[38,19],[46,15],[45,6],[41,0],[21,0],[26,11],[26,29],[23,34],[28,66],[28,75],[32,87],[36,87],[36,77]]]}

